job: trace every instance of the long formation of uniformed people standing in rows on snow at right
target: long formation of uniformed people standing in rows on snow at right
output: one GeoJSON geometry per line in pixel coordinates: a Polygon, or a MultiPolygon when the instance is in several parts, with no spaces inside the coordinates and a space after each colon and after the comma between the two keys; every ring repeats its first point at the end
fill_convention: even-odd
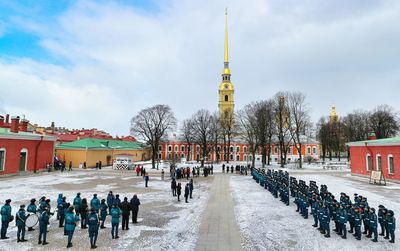
{"type": "Polygon", "coordinates": [[[347,239],[347,233],[350,233],[356,240],[361,240],[363,234],[366,238],[372,238],[373,242],[377,242],[378,228],[380,228],[379,236],[390,239],[390,243],[395,242],[394,212],[383,205],[379,205],[376,212],[362,195],[354,194],[352,201],[349,195],[342,192],[336,199],[326,185],[318,187],[315,181],[310,181],[307,185],[305,181],[289,177],[289,173],[282,170],[268,169],[265,172],[253,168],[252,176],[257,183],[270,191],[275,198],[280,198],[287,206],[290,201],[289,194],[294,197],[296,212],[299,212],[304,219],[312,215],[314,220],[312,226],[326,238],[331,237],[332,223],[333,231],[343,239],[347,239]]]}

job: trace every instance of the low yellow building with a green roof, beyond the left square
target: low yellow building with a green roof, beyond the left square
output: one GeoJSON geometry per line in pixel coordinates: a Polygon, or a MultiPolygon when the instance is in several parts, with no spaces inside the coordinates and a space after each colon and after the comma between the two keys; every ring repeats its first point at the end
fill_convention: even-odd
{"type": "Polygon", "coordinates": [[[110,166],[118,155],[132,156],[132,161],[150,159],[150,148],[146,145],[113,139],[84,138],[73,142],[61,143],[56,146],[57,158],[68,167],[96,167],[101,161],[102,166],[110,166]]]}

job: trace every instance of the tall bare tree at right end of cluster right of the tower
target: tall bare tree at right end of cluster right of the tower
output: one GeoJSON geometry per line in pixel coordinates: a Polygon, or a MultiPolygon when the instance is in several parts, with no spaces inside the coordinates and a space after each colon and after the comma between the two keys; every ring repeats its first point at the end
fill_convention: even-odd
{"type": "Polygon", "coordinates": [[[302,168],[302,142],[301,138],[305,134],[307,126],[310,124],[310,109],[306,103],[306,95],[301,92],[291,92],[288,94],[288,108],[290,114],[290,133],[293,138],[294,147],[299,155],[299,167],[302,168]]]}

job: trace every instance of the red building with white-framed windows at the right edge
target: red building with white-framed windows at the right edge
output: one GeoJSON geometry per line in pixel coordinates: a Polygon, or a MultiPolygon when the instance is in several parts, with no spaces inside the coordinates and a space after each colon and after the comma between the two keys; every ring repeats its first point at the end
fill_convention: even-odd
{"type": "Polygon", "coordinates": [[[385,179],[400,180],[400,137],[350,142],[350,167],[355,175],[382,171],[385,179]]]}

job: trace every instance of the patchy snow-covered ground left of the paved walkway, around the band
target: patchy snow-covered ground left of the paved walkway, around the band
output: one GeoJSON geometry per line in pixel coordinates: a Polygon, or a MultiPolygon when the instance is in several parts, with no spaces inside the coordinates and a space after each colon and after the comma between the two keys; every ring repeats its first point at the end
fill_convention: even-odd
{"type": "MultiPolygon", "coordinates": [[[[182,180],[183,185],[187,180],[182,180]]],[[[121,200],[137,194],[141,206],[139,223],[129,224],[128,231],[119,228],[120,239],[111,239],[111,224],[107,217],[106,229],[100,230],[98,250],[193,250],[196,245],[201,215],[207,205],[208,191],[212,183],[210,178],[195,178],[193,199],[189,203],[172,197],[170,180],[161,181],[151,177],[149,187],[144,187],[142,177],[129,171],[78,170],[73,172],[52,172],[28,176],[15,176],[0,179],[0,203],[12,199],[12,214],[15,215],[20,204],[29,204],[31,198],[45,195],[51,198],[52,211],[56,207],[57,195],[61,192],[72,201],[77,192],[88,202],[93,193],[99,199],[106,198],[108,191],[120,194],[121,200]]],[[[48,250],[65,249],[67,239],[58,228],[58,221],[52,217],[48,233],[48,250]]],[[[8,240],[0,240],[0,250],[42,250],[37,245],[38,231],[27,232],[28,242],[16,242],[15,222],[10,223],[8,240]]],[[[72,250],[88,250],[90,247],[87,230],[77,227],[73,238],[72,250]]]]}

